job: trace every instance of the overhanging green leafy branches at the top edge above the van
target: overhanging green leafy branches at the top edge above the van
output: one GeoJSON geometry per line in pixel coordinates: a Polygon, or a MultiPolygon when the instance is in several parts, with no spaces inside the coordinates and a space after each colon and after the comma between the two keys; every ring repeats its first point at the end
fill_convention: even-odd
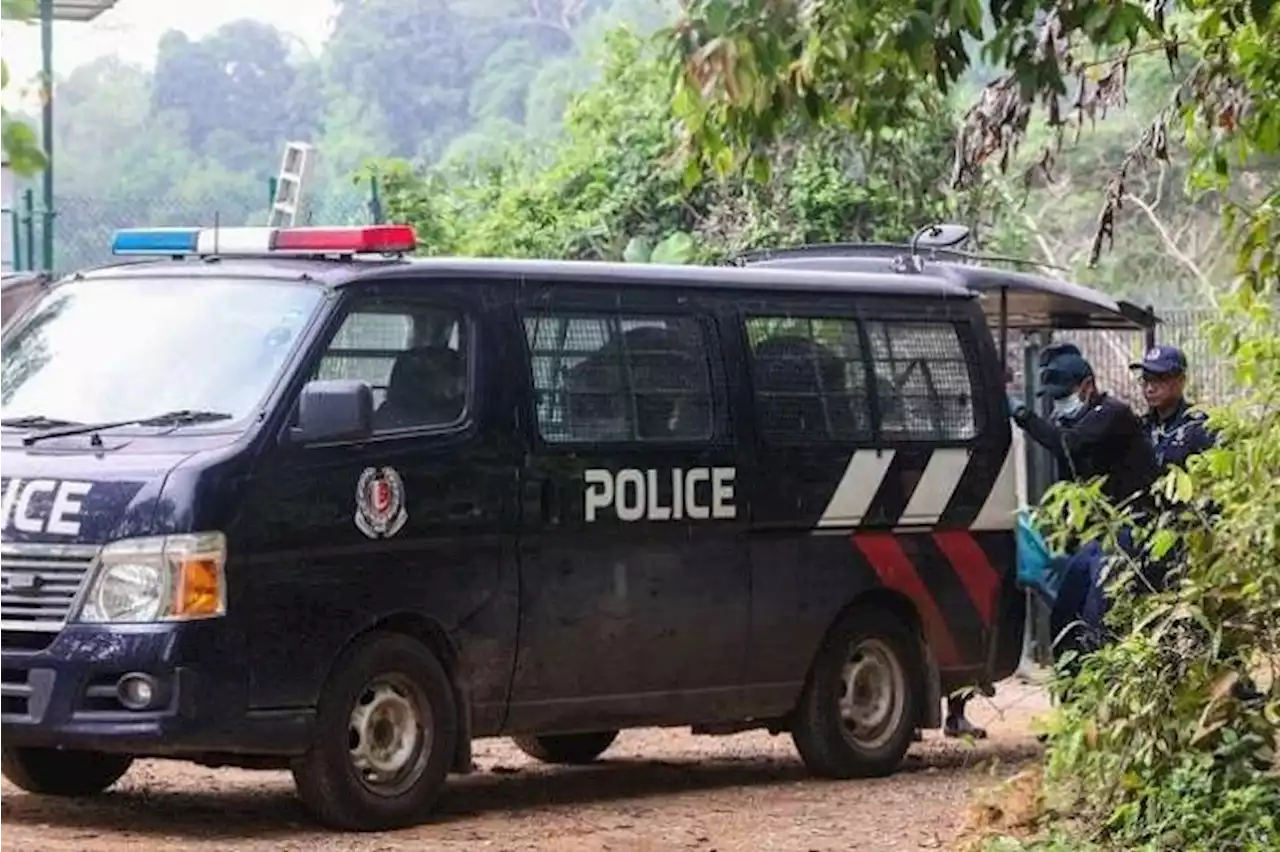
{"type": "Polygon", "coordinates": [[[1129,1],[691,0],[664,31],[691,161],[717,174],[763,161],[795,122],[892,127],[920,107],[919,79],[946,92],[963,78],[974,40],[1024,90],[1064,93],[1062,58],[1042,50],[1037,26],[1051,10],[1098,45],[1153,27],[1129,1]]]}

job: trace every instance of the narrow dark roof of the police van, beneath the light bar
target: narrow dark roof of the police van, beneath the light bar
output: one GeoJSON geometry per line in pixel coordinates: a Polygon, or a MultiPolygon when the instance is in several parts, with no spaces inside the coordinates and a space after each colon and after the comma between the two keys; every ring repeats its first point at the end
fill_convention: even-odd
{"type": "Polygon", "coordinates": [[[599,281],[634,287],[705,287],[710,289],[861,293],[972,299],[969,288],[941,275],[905,275],[892,270],[844,271],[828,269],[744,269],[735,266],[669,266],[605,261],[509,260],[488,257],[422,257],[390,261],[340,261],[306,257],[233,257],[145,260],[115,264],[77,274],[84,279],[137,276],[270,278],[314,280],[342,288],[371,279],[480,278],[499,275],[553,281],[599,281]]]}

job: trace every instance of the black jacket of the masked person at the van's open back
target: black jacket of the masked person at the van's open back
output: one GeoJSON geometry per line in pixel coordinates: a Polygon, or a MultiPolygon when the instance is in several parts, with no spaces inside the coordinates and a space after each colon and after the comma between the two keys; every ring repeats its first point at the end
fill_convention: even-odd
{"type": "Polygon", "coordinates": [[[1160,477],[1142,420],[1108,394],[1098,394],[1083,412],[1064,422],[1050,422],[1025,407],[1015,420],[1053,454],[1069,478],[1083,482],[1106,476],[1102,493],[1112,504],[1146,493],[1160,477]]]}

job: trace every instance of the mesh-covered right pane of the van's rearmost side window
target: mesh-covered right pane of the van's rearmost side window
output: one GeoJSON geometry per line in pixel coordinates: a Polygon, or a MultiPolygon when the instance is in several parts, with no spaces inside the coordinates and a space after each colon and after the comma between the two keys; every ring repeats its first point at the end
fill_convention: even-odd
{"type": "Polygon", "coordinates": [[[952,322],[867,322],[888,440],[968,440],[978,431],[973,376],[952,322]]]}

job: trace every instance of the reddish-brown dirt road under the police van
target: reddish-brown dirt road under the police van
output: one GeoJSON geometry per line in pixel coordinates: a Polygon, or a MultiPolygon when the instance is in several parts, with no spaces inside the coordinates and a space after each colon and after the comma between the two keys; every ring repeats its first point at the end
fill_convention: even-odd
{"type": "Polygon", "coordinates": [[[431,825],[380,835],[319,832],[288,774],[143,762],[91,802],[38,800],[0,782],[0,849],[15,852],[905,852],[950,844],[970,792],[1037,752],[1043,695],[1016,682],[970,716],[974,745],[932,733],[893,778],[809,778],[788,737],[684,730],[622,734],[594,766],[549,769],[504,741],[476,746],[480,771],[453,779],[431,825]]]}

